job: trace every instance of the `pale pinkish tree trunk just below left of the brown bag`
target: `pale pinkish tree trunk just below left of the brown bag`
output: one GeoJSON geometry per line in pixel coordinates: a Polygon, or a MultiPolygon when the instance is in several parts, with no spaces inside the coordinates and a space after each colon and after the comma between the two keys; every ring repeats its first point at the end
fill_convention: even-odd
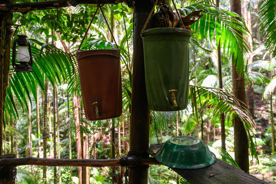
{"type": "MultiPolygon", "coordinates": [[[[79,96],[73,95],[73,106],[74,106],[74,117],[75,117],[75,126],[76,126],[76,152],[77,159],[81,159],[81,119],[80,119],[80,111],[78,108],[79,96]]],[[[81,167],[78,167],[78,179],[79,184],[82,184],[82,172],[81,167]]]]}

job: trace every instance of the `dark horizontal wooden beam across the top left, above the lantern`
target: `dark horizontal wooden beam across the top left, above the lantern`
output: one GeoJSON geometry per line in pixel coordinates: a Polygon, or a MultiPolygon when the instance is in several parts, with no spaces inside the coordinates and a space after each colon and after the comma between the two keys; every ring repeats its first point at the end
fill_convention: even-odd
{"type": "Polygon", "coordinates": [[[61,7],[76,6],[78,4],[118,4],[124,0],[52,0],[31,3],[9,3],[0,4],[0,12],[21,12],[26,14],[29,11],[49,10],[61,7]]]}

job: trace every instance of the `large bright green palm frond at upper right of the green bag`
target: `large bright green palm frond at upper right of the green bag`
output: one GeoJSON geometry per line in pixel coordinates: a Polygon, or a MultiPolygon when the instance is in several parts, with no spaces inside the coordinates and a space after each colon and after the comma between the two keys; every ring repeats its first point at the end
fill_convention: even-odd
{"type": "Polygon", "coordinates": [[[212,41],[215,36],[217,43],[220,40],[224,54],[233,57],[237,72],[242,76],[247,64],[249,48],[240,33],[251,37],[244,20],[236,13],[214,6],[210,1],[195,3],[180,10],[183,14],[188,14],[195,9],[204,9],[206,16],[191,25],[191,29],[199,32],[200,39],[209,37],[212,41]]]}

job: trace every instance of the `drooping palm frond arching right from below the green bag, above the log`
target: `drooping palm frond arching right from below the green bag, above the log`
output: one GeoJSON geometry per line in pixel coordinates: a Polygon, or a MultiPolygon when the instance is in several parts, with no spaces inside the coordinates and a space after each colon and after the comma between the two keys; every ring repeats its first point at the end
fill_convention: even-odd
{"type": "Polygon", "coordinates": [[[256,123],[246,104],[238,100],[232,94],[218,88],[207,88],[192,85],[190,85],[190,87],[191,96],[189,96],[189,99],[192,102],[192,107],[194,107],[195,104],[201,104],[202,108],[210,108],[213,115],[223,112],[226,117],[233,118],[238,116],[241,119],[247,132],[252,158],[256,159],[258,162],[258,155],[255,148],[256,140],[254,135],[254,129],[257,129],[256,123]]]}

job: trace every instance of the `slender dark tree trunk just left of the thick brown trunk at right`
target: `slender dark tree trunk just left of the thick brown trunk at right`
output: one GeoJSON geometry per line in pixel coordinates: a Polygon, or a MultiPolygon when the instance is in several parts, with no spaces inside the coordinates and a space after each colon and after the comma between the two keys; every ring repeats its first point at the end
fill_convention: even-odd
{"type": "MultiPolygon", "coordinates": [[[[219,7],[219,0],[216,0],[216,6],[219,7]]],[[[218,41],[218,81],[219,81],[219,88],[223,89],[222,72],[221,72],[221,39],[219,39],[218,41]]],[[[221,113],[220,120],[221,120],[221,148],[226,150],[224,113],[221,113]]]]}

